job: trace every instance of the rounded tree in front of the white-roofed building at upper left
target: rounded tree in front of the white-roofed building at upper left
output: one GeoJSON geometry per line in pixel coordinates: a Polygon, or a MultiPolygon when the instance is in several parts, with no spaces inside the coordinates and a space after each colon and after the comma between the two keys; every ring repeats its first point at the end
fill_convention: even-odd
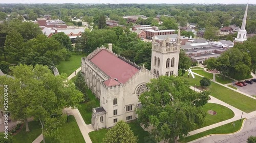
{"type": "Polygon", "coordinates": [[[66,35],[63,32],[59,32],[57,34],[54,34],[51,38],[57,40],[63,47],[65,47],[67,50],[72,51],[72,42],[68,35],[66,35]]]}

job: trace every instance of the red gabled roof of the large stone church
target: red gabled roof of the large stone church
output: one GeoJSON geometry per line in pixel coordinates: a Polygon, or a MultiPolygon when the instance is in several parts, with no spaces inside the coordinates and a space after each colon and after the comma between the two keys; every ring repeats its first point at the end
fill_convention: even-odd
{"type": "Polygon", "coordinates": [[[90,61],[110,76],[110,79],[112,78],[112,80],[105,81],[105,84],[108,86],[117,85],[116,83],[125,83],[139,71],[139,69],[124,62],[105,49],[99,51],[90,61]],[[117,81],[114,80],[115,78],[117,81]]]}

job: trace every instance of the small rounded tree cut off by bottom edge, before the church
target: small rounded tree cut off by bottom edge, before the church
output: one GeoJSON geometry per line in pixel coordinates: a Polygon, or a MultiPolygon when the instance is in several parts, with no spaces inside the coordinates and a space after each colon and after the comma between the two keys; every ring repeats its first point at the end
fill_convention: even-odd
{"type": "Polygon", "coordinates": [[[103,143],[136,143],[137,136],[134,136],[133,131],[130,130],[130,126],[124,121],[119,121],[117,124],[110,129],[105,138],[102,140],[103,143]]]}

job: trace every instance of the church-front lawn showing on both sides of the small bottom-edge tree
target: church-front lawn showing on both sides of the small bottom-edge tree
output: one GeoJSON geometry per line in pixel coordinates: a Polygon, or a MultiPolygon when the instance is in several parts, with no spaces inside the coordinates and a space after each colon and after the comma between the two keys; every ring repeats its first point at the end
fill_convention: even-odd
{"type": "MultiPolygon", "coordinates": [[[[144,138],[149,135],[147,131],[144,131],[143,128],[137,122],[128,123],[131,127],[135,136],[138,136],[138,142],[144,142],[144,138]]],[[[89,136],[93,143],[100,143],[102,139],[105,138],[105,134],[108,132],[107,129],[100,129],[89,133],[89,136]]]]}

